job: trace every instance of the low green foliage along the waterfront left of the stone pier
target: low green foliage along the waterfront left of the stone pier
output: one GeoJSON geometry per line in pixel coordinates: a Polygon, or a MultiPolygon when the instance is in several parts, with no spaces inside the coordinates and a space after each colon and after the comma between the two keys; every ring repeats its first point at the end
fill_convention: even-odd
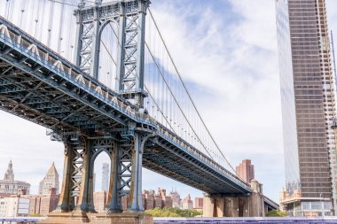
{"type": "Polygon", "coordinates": [[[179,209],[179,208],[154,208],[153,210],[146,210],[148,214],[153,215],[153,217],[186,217],[191,218],[198,215],[202,215],[202,212],[190,209],[179,209]]]}

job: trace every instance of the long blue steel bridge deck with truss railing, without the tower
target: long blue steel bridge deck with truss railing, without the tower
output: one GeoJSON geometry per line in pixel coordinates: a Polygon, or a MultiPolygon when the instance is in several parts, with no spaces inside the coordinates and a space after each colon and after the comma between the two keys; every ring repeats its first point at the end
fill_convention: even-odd
{"type": "Polygon", "coordinates": [[[0,109],[57,132],[115,137],[129,122],[153,132],[144,166],[209,194],[251,192],[223,166],[30,35],[0,18],[0,109]],[[3,25],[3,26],[2,26],[3,25]]]}

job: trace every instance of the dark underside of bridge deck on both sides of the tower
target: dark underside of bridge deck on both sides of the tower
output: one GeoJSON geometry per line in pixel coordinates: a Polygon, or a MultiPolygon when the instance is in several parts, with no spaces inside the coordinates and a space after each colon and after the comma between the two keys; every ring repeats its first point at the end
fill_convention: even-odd
{"type": "MultiPolygon", "coordinates": [[[[125,114],[58,73],[51,73],[34,60],[23,57],[15,50],[11,50],[11,56],[8,53],[0,56],[6,59],[0,59],[1,110],[66,133],[111,135],[117,139],[126,130],[129,118],[125,114]],[[17,62],[12,61],[13,58],[17,58],[17,62]],[[108,112],[112,115],[107,115],[108,112]]],[[[223,181],[223,175],[212,167],[159,139],[155,146],[145,149],[146,168],[209,194],[244,194],[239,186],[223,181]]]]}

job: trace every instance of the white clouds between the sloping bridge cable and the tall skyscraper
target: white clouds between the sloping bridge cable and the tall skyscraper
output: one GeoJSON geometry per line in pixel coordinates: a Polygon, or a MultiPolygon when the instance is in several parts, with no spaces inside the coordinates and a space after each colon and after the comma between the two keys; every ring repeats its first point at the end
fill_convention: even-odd
{"type": "Polygon", "coordinates": [[[231,165],[251,158],[267,195],[278,200],[284,163],[275,4],[230,3],[235,20],[212,12],[212,4],[193,4],[191,12],[165,2],[154,12],[184,79],[201,86],[194,99],[231,165]],[[188,22],[193,13],[197,24],[188,22]]]}

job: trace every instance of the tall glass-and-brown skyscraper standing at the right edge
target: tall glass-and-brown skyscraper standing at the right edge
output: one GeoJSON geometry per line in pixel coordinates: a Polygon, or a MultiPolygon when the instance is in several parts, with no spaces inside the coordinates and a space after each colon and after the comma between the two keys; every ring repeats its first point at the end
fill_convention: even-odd
{"type": "Polygon", "coordinates": [[[325,0],[276,0],[289,215],[336,207],[333,69],[325,0]]]}

